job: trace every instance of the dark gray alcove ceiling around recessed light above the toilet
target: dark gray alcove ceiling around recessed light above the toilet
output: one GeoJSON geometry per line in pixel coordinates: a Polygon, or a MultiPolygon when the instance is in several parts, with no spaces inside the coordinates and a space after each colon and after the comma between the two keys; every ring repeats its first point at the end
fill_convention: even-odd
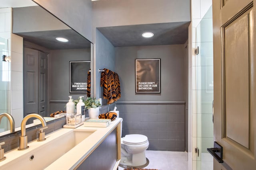
{"type": "Polygon", "coordinates": [[[98,27],[98,30],[114,47],[142,45],[184,44],[188,39],[189,22],[154,23],[126,25],[116,27],[98,27]],[[152,32],[151,38],[142,37],[142,33],[152,32]]]}

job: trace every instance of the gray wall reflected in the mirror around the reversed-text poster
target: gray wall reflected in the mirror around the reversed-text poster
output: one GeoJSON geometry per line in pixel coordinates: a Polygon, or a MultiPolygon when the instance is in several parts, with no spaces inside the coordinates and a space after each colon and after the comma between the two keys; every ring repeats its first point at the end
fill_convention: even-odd
{"type": "MultiPolygon", "coordinates": [[[[49,59],[49,100],[50,113],[64,108],[68,96],[78,99],[82,93],[69,93],[69,61],[90,61],[90,49],[51,50],[49,59]],[[51,100],[66,100],[54,102],[51,100]]],[[[87,75],[85,77],[87,79],[87,75]]],[[[82,94],[86,97],[86,94],[82,94]]]]}

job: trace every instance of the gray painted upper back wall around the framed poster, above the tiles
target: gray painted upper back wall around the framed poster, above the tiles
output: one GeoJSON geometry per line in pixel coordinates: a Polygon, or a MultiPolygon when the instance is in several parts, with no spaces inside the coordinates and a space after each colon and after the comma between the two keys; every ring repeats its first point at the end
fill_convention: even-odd
{"type": "Polygon", "coordinates": [[[116,72],[121,98],[118,101],[185,101],[184,45],[116,48],[116,72]],[[135,93],[135,59],[160,58],[161,93],[135,93]]]}

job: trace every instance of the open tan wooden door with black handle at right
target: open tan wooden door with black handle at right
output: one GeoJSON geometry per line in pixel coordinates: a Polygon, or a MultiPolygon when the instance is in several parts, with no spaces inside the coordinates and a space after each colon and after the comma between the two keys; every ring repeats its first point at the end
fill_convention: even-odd
{"type": "Polygon", "coordinates": [[[213,0],[214,170],[256,169],[256,0],[213,0]]]}

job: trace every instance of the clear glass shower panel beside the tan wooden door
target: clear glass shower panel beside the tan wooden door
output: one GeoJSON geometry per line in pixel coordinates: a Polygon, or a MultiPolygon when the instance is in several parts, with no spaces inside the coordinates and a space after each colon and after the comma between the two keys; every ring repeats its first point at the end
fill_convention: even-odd
{"type": "Polygon", "coordinates": [[[196,47],[199,53],[194,58],[193,96],[196,104],[193,106],[194,121],[196,122],[196,147],[199,154],[196,158],[197,170],[212,170],[213,158],[206,150],[213,147],[213,31],[212,6],[206,12],[196,27],[196,47]]]}

